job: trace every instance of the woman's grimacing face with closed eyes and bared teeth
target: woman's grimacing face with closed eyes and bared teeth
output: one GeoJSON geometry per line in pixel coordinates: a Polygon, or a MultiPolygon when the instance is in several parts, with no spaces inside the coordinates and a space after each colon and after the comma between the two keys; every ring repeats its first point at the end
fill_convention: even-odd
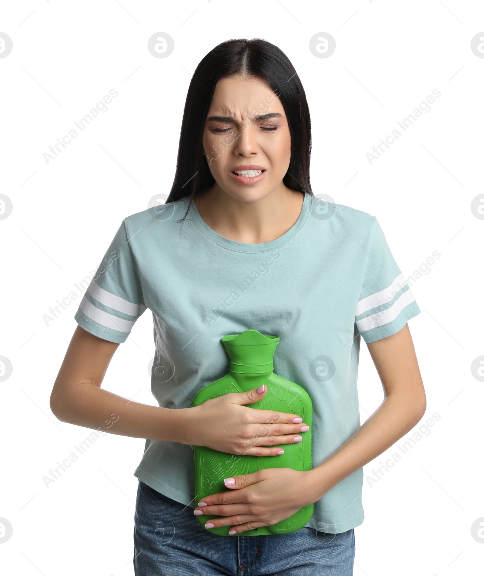
{"type": "Polygon", "coordinates": [[[285,188],[291,135],[277,95],[258,78],[220,79],[205,120],[203,149],[215,186],[233,198],[254,202],[285,188]],[[254,172],[236,174],[242,170],[254,172]]]}

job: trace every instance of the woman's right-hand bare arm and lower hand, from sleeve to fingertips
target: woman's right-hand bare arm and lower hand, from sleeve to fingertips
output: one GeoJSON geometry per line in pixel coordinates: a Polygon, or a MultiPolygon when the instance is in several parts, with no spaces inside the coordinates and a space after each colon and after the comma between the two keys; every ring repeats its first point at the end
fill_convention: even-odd
{"type": "MultiPolygon", "coordinates": [[[[344,444],[307,472],[268,468],[243,476],[203,499],[195,514],[218,514],[207,528],[245,532],[285,520],[390,448],[425,413],[424,385],[407,324],[397,334],[367,344],[384,389],[379,408],[344,444]]],[[[226,484],[227,485],[227,484],[226,484]]]]}

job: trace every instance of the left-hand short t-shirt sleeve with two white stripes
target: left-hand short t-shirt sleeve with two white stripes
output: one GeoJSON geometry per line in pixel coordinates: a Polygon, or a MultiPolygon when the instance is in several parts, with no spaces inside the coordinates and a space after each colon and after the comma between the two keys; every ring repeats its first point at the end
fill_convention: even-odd
{"type": "Polygon", "coordinates": [[[87,287],[74,319],[94,336],[121,343],[128,338],[144,310],[138,266],[123,221],[87,287]]]}

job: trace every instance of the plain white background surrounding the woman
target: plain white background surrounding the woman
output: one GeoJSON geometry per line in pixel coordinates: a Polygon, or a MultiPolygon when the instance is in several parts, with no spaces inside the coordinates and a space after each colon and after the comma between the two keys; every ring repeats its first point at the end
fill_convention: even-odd
{"type": "MultiPolygon", "coordinates": [[[[470,43],[483,30],[484,5],[456,0],[3,6],[0,32],[13,40],[0,59],[0,193],[13,202],[0,220],[0,355],[13,365],[0,382],[0,517],[13,526],[0,544],[3,574],[133,574],[133,472],[144,440],[101,437],[45,486],[43,476],[90,430],[49,410],[80,296],[48,325],[43,316],[96,269],[124,217],[169,194],[190,74],[220,41],[243,37],[276,44],[298,70],[314,194],[375,215],[406,276],[441,253],[411,287],[422,313],[409,322],[427,393],[422,423],[441,418],[371,486],[367,476],[397,448],[365,467],[355,575],[479,573],[484,539],[472,538],[471,525],[484,517],[484,383],[471,363],[484,355],[484,220],[471,200],[484,192],[484,58],[470,43]],[[168,58],[147,50],[159,31],[174,39],[168,58]],[[329,58],[309,50],[318,32],[336,39],[329,58]],[[112,88],[119,95],[108,111],[47,164],[48,147],[112,88]],[[365,154],[434,89],[441,96],[430,112],[370,164],[365,154]]],[[[103,386],[155,404],[153,355],[148,312],[103,386]]],[[[382,401],[363,340],[359,392],[363,422],[382,401]]]]}

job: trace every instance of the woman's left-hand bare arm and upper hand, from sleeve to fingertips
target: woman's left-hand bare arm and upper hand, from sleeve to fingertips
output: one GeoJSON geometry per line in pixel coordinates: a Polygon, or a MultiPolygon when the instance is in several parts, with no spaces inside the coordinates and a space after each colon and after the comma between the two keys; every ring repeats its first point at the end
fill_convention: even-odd
{"type": "Polygon", "coordinates": [[[256,391],[231,393],[199,407],[161,408],[140,404],[101,388],[119,344],[80,326],[67,348],[52,389],[50,406],[62,422],[111,434],[209,446],[230,454],[276,456],[304,427],[296,415],[243,406],[260,400],[256,391]]]}

